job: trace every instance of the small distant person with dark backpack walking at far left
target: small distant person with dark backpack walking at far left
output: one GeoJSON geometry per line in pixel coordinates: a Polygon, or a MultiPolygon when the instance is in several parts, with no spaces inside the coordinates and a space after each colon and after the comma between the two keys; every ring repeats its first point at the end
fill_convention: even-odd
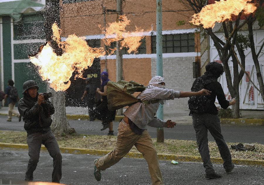
{"type": "Polygon", "coordinates": [[[15,110],[14,110],[14,106],[16,104],[16,102],[19,100],[18,99],[18,93],[17,93],[17,89],[14,87],[14,81],[9,79],[8,80],[8,86],[6,87],[5,90],[5,98],[4,98],[4,102],[6,102],[7,100],[7,104],[8,104],[8,119],[6,121],[11,122],[12,121],[12,114],[14,114],[16,117],[18,117],[18,121],[21,121],[21,115],[19,115],[15,110]]]}

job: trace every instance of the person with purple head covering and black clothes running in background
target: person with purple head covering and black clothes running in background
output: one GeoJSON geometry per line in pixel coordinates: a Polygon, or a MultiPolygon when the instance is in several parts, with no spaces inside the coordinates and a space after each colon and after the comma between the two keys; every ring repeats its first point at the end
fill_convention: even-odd
{"type": "Polygon", "coordinates": [[[107,101],[107,83],[108,83],[108,73],[103,71],[101,73],[101,88],[97,88],[97,92],[102,96],[101,103],[95,107],[93,114],[99,120],[102,120],[103,128],[101,131],[109,128],[109,132],[107,135],[114,135],[113,131],[113,121],[115,120],[116,111],[108,110],[108,101],[107,101]]]}

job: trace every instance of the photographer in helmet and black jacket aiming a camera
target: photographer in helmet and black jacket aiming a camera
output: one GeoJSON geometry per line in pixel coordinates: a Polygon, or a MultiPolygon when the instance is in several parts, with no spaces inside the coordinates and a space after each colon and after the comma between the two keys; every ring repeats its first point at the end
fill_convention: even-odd
{"type": "Polygon", "coordinates": [[[51,115],[54,114],[54,107],[48,100],[51,93],[38,93],[38,85],[34,80],[26,81],[23,84],[23,98],[18,102],[18,111],[23,117],[24,129],[27,131],[28,167],[25,175],[25,181],[33,181],[33,172],[35,171],[41,144],[47,148],[50,156],[53,158],[52,182],[60,183],[62,157],[59,145],[50,125],[52,123],[51,115]]]}

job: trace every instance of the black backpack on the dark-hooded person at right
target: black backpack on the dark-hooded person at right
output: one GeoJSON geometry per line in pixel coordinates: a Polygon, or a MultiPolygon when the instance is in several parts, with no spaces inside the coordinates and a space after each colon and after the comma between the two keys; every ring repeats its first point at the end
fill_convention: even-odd
{"type": "MultiPolygon", "coordinates": [[[[217,81],[217,79],[203,80],[202,77],[197,78],[197,82],[192,86],[192,92],[198,92],[204,89],[204,86],[217,81]]],[[[210,95],[209,95],[210,96],[210,95]]],[[[188,107],[192,113],[204,113],[207,111],[207,107],[210,105],[210,99],[208,96],[190,96],[188,100],[188,107]]]]}

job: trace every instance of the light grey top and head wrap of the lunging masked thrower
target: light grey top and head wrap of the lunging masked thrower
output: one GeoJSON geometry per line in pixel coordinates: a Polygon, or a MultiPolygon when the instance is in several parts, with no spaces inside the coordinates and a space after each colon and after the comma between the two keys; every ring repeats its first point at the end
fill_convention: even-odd
{"type": "MultiPolygon", "coordinates": [[[[174,98],[180,97],[180,91],[166,89],[165,86],[159,84],[161,82],[165,83],[163,77],[154,76],[150,80],[147,88],[137,98],[141,101],[160,100],[160,103],[163,104],[164,100],[173,100],[174,98]]],[[[154,117],[160,103],[144,104],[138,102],[128,107],[123,115],[128,117],[140,129],[145,129],[147,125],[151,127],[167,127],[165,121],[154,117]]]]}

